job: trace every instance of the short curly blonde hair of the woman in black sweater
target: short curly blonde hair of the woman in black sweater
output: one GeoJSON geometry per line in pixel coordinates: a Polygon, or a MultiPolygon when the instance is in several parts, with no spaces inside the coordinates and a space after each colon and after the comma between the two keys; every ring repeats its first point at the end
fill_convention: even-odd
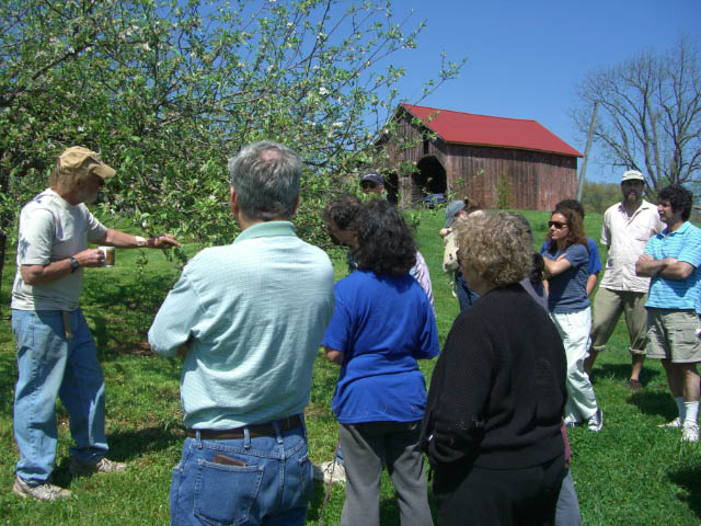
{"type": "Polygon", "coordinates": [[[522,216],[473,214],[456,230],[461,263],[495,287],[518,283],[530,273],[533,237],[522,216]]]}

